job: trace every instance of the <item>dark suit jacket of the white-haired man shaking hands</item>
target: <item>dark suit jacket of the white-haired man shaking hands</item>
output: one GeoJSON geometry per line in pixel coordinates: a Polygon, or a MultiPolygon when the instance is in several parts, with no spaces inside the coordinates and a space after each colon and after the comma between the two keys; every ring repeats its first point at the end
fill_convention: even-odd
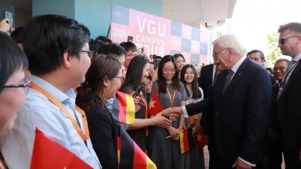
{"type": "Polygon", "coordinates": [[[222,70],[214,96],[186,105],[189,115],[214,110],[214,137],[217,153],[224,159],[257,163],[269,120],[272,87],[265,68],[247,57],[228,87],[223,87],[228,70],[222,70]]]}

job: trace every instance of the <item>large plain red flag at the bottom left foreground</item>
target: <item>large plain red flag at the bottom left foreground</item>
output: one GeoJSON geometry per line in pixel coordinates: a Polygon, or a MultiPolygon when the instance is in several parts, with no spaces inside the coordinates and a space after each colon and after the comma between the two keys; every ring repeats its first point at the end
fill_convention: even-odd
{"type": "Polygon", "coordinates": [[[44,134],[37,127],[30,168],[92,169],[90,165],[77,157],[73,152],[44,134]]]}

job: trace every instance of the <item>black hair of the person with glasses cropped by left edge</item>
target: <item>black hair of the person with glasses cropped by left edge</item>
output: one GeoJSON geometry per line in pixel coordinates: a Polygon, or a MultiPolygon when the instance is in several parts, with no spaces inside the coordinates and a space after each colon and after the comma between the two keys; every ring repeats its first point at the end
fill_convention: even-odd
{"type": "Polygon", "coordinates": [[[0,32],[0,92],[18,70],[28,67],[27,56],[8,34],[0,32]]]}

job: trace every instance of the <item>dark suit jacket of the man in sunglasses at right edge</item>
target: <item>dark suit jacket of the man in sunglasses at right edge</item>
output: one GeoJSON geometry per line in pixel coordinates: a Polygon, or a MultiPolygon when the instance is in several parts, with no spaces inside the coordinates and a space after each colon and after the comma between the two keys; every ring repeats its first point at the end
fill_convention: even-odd
{"type": "Polygon", "coordinates": [[[283,143],[292,150],[301,148],[301,63],[294,67],[278,102],[283,143]]]}

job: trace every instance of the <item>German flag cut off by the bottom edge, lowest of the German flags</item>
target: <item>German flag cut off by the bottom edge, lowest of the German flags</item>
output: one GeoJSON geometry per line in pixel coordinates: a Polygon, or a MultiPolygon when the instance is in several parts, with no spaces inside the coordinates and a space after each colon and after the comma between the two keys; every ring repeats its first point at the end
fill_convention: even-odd
{"type": "Polygon", "coordinates": [[[123,127],[117,126],[117,155],[119,169],[156,169],[155,163],[140,149],[123,127]]]}

